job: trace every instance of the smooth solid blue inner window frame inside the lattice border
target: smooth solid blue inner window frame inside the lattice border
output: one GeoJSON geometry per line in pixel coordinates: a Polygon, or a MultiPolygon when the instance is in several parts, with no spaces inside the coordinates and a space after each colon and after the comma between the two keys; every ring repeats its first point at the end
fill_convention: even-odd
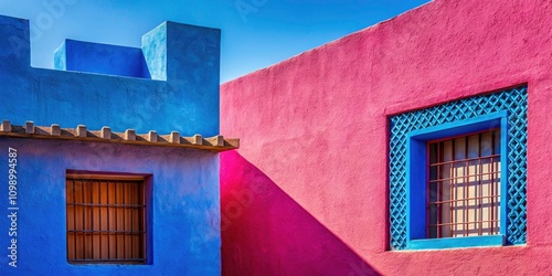
{"type": "MultiPolygon", "coordinates": [[[[506,212],[500,213],[500,235],[427,238],[427,141],[500,128],[500,152],[507,152],[508,112],[453,121],[406,135],[406,248],[448,248],[502,245],[506,236],[506,212]]],[[[500,179],[508,179],[507,155],[500,156],[500,179]]],[[[501,181],[501,191],[508,189],[501,181]]],[[[506,193],[501,193],[500,210],[506,210],[506,193]]]]}

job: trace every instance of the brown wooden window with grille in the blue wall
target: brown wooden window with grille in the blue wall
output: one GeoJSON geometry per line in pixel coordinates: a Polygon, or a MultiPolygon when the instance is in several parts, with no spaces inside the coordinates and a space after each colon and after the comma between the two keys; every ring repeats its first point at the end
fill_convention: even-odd
{"type": "Polygon", "coordinates": [[[67,174],[67,261],[145,264],[144,177],[67,174]]]}

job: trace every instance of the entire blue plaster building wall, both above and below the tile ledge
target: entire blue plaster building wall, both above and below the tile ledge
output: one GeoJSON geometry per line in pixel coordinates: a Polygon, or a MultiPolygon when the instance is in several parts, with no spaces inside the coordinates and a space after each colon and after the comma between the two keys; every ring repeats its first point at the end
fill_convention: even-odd
{"type": "MultiPolygon", "coordinates": [[[[55,66],[76,72],[31,67],[29,34],[26,20],[0,15],[0,119],[219,134],[220,30],[166,22],[141,50],[66,41],[55,66]]],[[[0,137],[0,275],[220,275],[216,153],[0,137]],[[19,152],[18,268],[7,257],[8,147],[19,152]],[[67,264],[66,170],[153,176],[150,265],[67,264]]]]}

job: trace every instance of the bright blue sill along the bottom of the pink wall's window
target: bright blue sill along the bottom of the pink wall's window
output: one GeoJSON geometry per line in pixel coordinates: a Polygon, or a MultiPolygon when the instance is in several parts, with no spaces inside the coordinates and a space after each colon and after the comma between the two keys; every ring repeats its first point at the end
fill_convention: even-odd
{"type": "Polygon", "coordinates": [[[450,250],[463,247],[502,246],[506,238],[503,235],[492,236],[463,236],[411,240],[407,242],[407,250],[450,250]]]}

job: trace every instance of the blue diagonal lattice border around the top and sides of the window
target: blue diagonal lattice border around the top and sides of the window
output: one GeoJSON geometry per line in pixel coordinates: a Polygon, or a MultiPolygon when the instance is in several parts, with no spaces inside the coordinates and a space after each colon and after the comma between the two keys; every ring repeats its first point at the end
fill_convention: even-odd
{"type": "Polygon", "coordinates": [[[406,248],[406,134],[501,110],[508,112],[507,241],[526,243],[527,232],[527,86],[465,98],[391,117],[391,248],[406,248]]]}

